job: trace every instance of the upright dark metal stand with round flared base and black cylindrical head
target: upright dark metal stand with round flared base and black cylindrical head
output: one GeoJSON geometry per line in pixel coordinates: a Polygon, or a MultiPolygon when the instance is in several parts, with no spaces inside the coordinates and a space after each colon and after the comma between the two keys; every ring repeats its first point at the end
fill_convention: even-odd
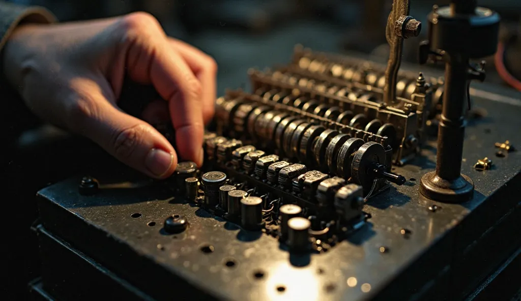
{"type": "Polygon", "coordinates": [[[421,178],[420,193],[440,202],[464,202],[472,198],[474,182],[461,174],[465,134],[465,103],[469,80],[485,79],[483,64],[469,59],[495,53],[499,15],[477,7],[475,0],[453,0],[450,6],[434,7],[429,15],[429,41],[420,46],[420,63],[427,58],[445,61],[445,93],[439,126],[436,171],[421,178]]]}

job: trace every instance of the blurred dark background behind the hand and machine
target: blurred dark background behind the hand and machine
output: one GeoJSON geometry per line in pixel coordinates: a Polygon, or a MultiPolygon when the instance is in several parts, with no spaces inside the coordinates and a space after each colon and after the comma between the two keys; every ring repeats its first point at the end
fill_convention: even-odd
{"type": "MultiPolygon", "coordinates": [[[[284,64],[295,44],[317,51],[343,53],[358,51],[388,55],[384,37],[391,0],[34,0],[10,1],[37,4],[50,9],[60,21],[85,20],[144,10],[162,23],[167,34],[199,47],[212,55],[219,66],[218,94],[227,87],[248,89],[247,69],[284,64]]],[[[413,0],[410,15],[424,23],[421,36],[405,41],[404,61],[415,62],[418,43],[425,38],[426,16],[433,4],[449,1],[413,0]]],[[[500,12],[502,39],[512,41],[506,56],[507,67],[519,77],[521,47],[521,1],[481,0],[500,12]]],[[[504,85],[494,73],[489,58],[487,81],[504,85]]],[[[506,88],[506,86],[505,86],[506,88]]],[[[36,220],[34,196],[45,185],[71,174],[100,165],[106,155],[92,143],[68,137],[51,127],[40,127],[21,101],[8,91],[2,127],[8,141],[2,159],[4,204],[3,244],[6,264],[2,265],[4,294],[10,300],[26,291],[27,282],[38,277],[38,244],[30,231],[36,220]],[[42,139],[43,138],[43,139],[42,139]],[[7,205],[6,205],[7,206],[7,205]],[[7,207],[6,207],[7,208],[7,207]],[[6,267],[6,268],[4,268],[6,267]]],[[[4,298],[6,297],[6,298],[4,298]]]]}

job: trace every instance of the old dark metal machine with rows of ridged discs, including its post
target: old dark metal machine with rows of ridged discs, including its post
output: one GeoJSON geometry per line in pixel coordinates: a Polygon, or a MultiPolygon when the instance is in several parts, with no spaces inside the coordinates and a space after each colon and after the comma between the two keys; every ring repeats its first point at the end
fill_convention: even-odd
{"type": "Polygon", "coordinates": [[[469,86],[485,78],[470,59],[495,52],[499,16],[475,1],[433,8],[420,54],[445,61],[441,77],[400,70],[403,39],[421,30],[408,13],[394,1],[387,65],[297,46],[288,65],[252,69],[252,92],[217,99],[201,169],[181,162],[152,181],[105,168],[40,191],[34,295],[514,295],[500,280],[521,265],[521,101],[469,86]],[[471,96],[488,122],[465,129],[471,96]]]}

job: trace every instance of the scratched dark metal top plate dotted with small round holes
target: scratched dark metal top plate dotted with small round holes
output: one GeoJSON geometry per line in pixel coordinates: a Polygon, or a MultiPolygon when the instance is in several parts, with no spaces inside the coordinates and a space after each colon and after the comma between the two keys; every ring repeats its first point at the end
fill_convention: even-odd
{"type": "MultiPolygon", "coordinates": [[[[385,292],[384,289],[389,290],[389,283],[404,285],[403,296],[418,297],[420,294],[425,297],[429,292],[429,287],[425,286],[428,280],[439,282],[441,290],[447,289],[448,284],[441,281],[440,275],[442,271],[450,270],[453,257],[457,256],[451,252],[457,249],[455,245],[464,243],[456,240],[455,230],[460,230],[470,212],[484,206],[485,200],[512,180],[521,168],[521,152],[497,158],[493,147],[494,142],[507,139],[514,145],[521,145],[517,134],[521,129],[518,118],[521,107],[475,100],[488,114],[478,122],[471,122],[466,130],[463,173],[474,180],[474,198],[456,205],[434,203],[419,195],[421,175],[435,167],[435,143],[431,142],[431,147],[427,147],[414,164],[395,169],[410,179],[405,185],[392,187],[389,192],[369,200],[364,208],[372,215],[367,227],[325,254],[310,258],[290,255],[272,237],[245,232],[209,216],[202,209],[179,204],[168,192],[155,186],[104,189],[85,197],[77,193],[78,178],[69,179],[39,193],[42,220],[46,228],[73,245],[83,246],[86,249],[81,249],[82,252],[104,262],[108,269],[120,270],[121,262],[131,265],[132,256],[144,256],[149,264],[180,275],[192,285],[222,299],[357,300],[378,296],[385,292]],[[474,170],[477,159],[485,156],[492,158],[494,168],[483,172],[474,170]],[[49,210],[49,204],[66,210],[49,210]],[[439,209],[430,211],[428,206],[435,204],[439,209]],[[141,217],[131,217],[138,212],[141,217]],[[178,235],[162,234],[162,223],[171,214],[187,216],[190,228],[178,235]],[[72,219],[64,218],[72,215],[72,219]],[[105,262],[109,257],[104,258],[103,252],[90,254],[89,245],[95,243],[82,242],[82,231],[87,230],[73,229],[76,226],[72,222],[94,226],[85,229],[113,242],[105,248],[127,249],[132,256],[111,264],[105,262]],[[150,222],[156,224],[150,226],[150,222]],[[400,233],[403,228],[411,231],[407,238],[400,233]],[[213,245],[214,252],[201,252],[203,245],[213,245]],[[388,252],[380,252],[381,246],[388,248],[388,252]],[[233,267],[228,267],[227,261],[233,261],[233,267]],[[407,291],[407,286],[396,277],[425,262],[430,263],[430,268],[427,268],[429,265],[417,267],[417,271],[423,273],[402,278],[410,281],[410,291],[407,291]],[[255,277],[256,273],[262,273],[263,277],[255,277]]],[[[119,178],[125,180],[121,175],[119,178]]],[[[118,177],[107,174],[99,175],[98,179],[102,184],[118,182],[118,177]]],[[[477,229],[480,231],[479,227],[477,229]]],[[[469,233],[476,237],[480,234],[469,233]]],[[[154,279],[153,274],[142,277],[154,279]]],[[[139,277],[127,280],[136,286],[141,282],[139,277]]],[[[146,293],[160,299],[168,290],[164,287],[163,292],[146,293]]]]}

